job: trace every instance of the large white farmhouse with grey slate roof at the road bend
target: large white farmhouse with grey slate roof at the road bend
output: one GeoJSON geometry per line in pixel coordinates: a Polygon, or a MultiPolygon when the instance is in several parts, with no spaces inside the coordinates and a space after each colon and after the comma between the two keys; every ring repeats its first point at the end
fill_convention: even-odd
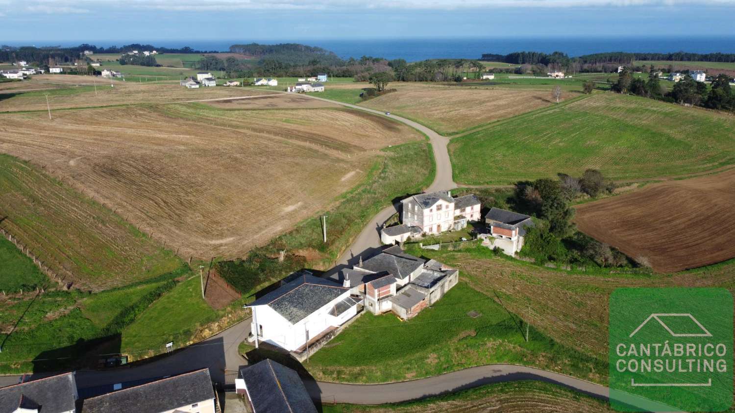
{"type": "Polygon", "coordinates": [[[248,306],[251,337],[288,351],[304,350],[357,314],[350,288],[306,273],[248,306]]]}

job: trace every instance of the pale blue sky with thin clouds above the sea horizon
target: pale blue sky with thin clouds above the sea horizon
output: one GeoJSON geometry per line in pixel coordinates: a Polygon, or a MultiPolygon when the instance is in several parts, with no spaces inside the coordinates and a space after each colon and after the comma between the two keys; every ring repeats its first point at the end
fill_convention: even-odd
{"type": "Polygon", "coordinates": [[[735,0],[0,0],[0,43],[735,35],[735,0]]]}

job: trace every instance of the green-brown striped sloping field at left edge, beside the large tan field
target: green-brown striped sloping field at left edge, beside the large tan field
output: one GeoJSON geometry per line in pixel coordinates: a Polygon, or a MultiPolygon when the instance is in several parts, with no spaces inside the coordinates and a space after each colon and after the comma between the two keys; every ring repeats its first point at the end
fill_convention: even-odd
{"type": "Polygon", "coordinates": [[[104,290],[182,265],[109,209],[14,157],[0,154],[0,225],[65,281],[104,290]]]}

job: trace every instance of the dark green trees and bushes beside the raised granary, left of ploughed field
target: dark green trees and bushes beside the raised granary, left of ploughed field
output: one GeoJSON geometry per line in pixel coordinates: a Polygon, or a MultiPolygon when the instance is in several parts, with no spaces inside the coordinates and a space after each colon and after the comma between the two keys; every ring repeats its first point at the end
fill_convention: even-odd
{"type": "Polygon", "coordinates": [[[610,193],[614,187],[613,182],[594,169],[585,170],[580,177],[559,173],[559,179],[516,184],[511,200],[514,208],[536,218],[534,228],[527,228],[526,246],[520,254],[539,263],[630,265],[625,254],[581,234],[572,223],[571,201],[583,193],[592,197],[610,193]]]}

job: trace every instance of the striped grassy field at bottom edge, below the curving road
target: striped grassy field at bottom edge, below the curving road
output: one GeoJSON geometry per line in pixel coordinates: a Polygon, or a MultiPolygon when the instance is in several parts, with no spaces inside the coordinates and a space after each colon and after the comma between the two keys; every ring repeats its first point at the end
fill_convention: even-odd
{"type": "Polygon", "coordinates": [[[421,401],[358,406],[323,404],[323,413],[612,412],[609,404],[542,381],[487,384],[421,401]]]}

